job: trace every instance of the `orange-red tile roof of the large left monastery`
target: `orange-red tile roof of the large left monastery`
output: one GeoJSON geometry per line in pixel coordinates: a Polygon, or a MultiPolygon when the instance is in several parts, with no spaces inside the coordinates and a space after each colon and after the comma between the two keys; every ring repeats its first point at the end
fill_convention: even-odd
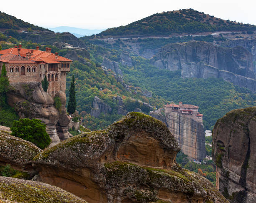
{"type": "Polygon", "coordinates": [[[20,48],[20,53],[18,54],[18,48],[10,48],[5,50],[0,50],[0,61],[5,63],[21,63],[24,60],[30,61],[26,63],[60,63],[63,62],[71,62],[72,60],[65,58],[63,56],[55,55],[54,53],[41,51],[41,50],[33,50],[31,49],[23,49],[20,48]],[[33,54],[32,54],[33,52],[33,54]],[[26,58],[27,53],[30,53],[30,58],[26,58]]]}

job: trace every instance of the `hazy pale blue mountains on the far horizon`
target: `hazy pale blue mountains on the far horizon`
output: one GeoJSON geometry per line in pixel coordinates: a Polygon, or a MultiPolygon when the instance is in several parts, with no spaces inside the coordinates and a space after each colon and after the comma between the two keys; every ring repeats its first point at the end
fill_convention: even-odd
{"type": "Polygon", "coordinates": [[[101,30],[89,30],[89,29],[82,29],[82,28],[74,28],[74,27],[69,27],[69,26],[60,26],[56,28],[49,28],[50,30],[53,30],[55,33],[64,33],[64,32],[69,32],[75,35],[77,38],[83,37],[85,35],[90,36],[90,35],[95,35],[103,30],[106,29],[101,29],[101,30]]]}

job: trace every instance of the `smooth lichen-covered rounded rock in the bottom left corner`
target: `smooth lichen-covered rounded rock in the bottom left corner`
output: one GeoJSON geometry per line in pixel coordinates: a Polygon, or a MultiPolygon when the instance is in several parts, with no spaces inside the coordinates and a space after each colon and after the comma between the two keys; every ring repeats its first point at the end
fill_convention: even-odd
{"type": "Polygon", "coordinates": [[[86,203],[85,200],[46,183],[0,176],[1,203],[86,203]]]}

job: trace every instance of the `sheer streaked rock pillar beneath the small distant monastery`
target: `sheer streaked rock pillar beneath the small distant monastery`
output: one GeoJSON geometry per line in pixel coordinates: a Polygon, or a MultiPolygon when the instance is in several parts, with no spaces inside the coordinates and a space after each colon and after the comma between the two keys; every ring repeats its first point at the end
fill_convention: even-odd
{"type": "Polygon", "coordinates": [[[151,111],[149,115],[164,122],[179,143],[181,151],[196,160],[203,160],[205,151],[204,125],[187,115],[177,112],[151,111]]]}

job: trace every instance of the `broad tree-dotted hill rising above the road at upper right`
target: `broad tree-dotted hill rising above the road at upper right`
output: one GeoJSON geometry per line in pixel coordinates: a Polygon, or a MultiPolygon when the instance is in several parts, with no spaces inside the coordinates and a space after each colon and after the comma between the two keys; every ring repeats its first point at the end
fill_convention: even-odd
{"type": "Polygon", "coordinates": [[[100,34],[106,36],[166,36],[174,33],[205,33],[215,31],[256,30],[255,25],[222,20],[193,9],[156,13],[131,24],[109,28],[100,34]]]}

